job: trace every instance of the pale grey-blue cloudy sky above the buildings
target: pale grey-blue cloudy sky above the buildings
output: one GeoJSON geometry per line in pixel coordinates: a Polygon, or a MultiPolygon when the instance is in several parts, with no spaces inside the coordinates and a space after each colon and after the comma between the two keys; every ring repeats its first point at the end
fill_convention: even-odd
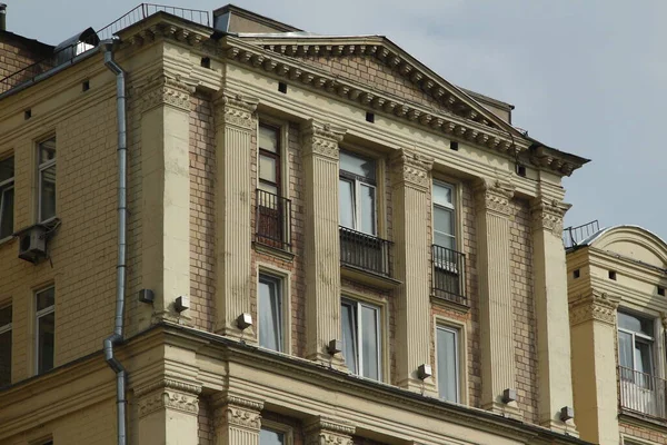
{"type": "MultiPolygon", "coordinates": [[[[1,0],[9,31],[56,44],[137,0],[1,0]]],[[[667,240],[667,1],[233,0],[326,34],[382,34],[448,81],[512,103],[512,123],[591,162],[565,178],[566,226],[631,224],[667,240]]],[[[225,0],[165,0],[212,11],[225,0]]]]}

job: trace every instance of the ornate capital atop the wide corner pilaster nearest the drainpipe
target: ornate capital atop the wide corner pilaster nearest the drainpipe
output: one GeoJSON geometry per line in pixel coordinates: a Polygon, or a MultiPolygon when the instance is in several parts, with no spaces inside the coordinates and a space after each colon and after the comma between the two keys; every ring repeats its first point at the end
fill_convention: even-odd
{"type": "Polygon", "coordinates": [[[139,109],[146,112],[160,105],[171,106],[183,111],[190,111],[190,96],[195,86],[185,79],[159,73],[148,77],[146,85],[139,88],[139,109]]]}

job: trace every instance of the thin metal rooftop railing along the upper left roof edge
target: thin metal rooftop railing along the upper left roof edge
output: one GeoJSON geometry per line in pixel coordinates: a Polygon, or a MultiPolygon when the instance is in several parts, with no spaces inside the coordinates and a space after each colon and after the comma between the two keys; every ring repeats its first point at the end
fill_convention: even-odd
{"type": "Polygon", "coordinates": [[[177,16],[199,24],[205,24],[207,27],[210,27],[211,23],[208,11],[176,8],[165,4],[141,3],[98,31],[92,31],[92,29],[87,30],[84,31],[84,36],[81,40],[73,40],[69,44],[59,46],[48,58],[39,60],[0,79],[0,93],[33,80],[38,76],[44,75],[56,67],[64,63],[71,63],[78,56],[81,56],[84,52],[96,48],[100,40],[111,39],[113,34],[121,29],[128,28],[129,26],[160,11],[168,12],[172,16],[177,16]]]}

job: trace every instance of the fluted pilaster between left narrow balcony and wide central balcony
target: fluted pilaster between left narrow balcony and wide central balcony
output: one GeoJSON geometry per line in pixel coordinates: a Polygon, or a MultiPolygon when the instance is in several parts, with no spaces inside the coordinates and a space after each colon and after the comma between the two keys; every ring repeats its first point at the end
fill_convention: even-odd
{"type": "Polygon", "coordinates": [[[338,235],[338,142],[345,130],[309,120],[301,129],[306,210],[306,356],[345,369],[340,353],[340,244],[338,235]]]}

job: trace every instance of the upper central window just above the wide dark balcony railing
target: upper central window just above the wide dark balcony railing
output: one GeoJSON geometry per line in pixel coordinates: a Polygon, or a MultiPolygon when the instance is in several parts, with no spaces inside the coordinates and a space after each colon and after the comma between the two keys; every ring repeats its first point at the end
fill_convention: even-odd
{"type": "Polygon", "coordinates": [[[338,188],[340,225],[376,236],[375,161],[341,151],[338,188]]]}

